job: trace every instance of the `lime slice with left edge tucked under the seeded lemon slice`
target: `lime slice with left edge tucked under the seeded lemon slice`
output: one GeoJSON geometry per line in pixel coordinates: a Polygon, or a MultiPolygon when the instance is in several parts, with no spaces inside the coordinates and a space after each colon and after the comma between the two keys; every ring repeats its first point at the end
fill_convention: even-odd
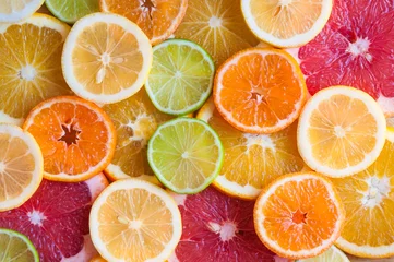
{"type": "Polygon", "coordinates": [[[153,56],[145,87],[157,109],[176,116],[198,110],[212,92],[212,57],[198,44],[183,39],[155,46],[153,56]]]}

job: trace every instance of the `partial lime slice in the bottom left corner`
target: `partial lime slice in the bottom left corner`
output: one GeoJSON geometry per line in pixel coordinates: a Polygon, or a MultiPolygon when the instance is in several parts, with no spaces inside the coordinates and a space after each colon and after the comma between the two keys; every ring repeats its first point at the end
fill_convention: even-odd
{"type": "Polygon", "coordinates": [[[26,236],[0,228],[0,261],[38,262],[39,255],[26,236]]]}

